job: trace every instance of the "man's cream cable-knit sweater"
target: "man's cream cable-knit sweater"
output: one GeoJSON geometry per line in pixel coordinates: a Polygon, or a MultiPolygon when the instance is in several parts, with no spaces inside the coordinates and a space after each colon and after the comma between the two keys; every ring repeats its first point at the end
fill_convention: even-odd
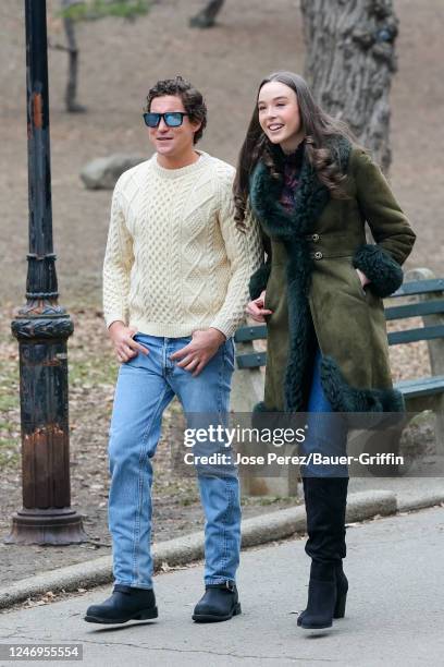
{"type": "Polygon", "coordinates": [[[119,179],[103,264],[103,312],[151,336],[214,327],[232,336],[262,260],[256,221],[233,219],[233,167],[199,151],[164,169],[157,156],[119,179]]]}

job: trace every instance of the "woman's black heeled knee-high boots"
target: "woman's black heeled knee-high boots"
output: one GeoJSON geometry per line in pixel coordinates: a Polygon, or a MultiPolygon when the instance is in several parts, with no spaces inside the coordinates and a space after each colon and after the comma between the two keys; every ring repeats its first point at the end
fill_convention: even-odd
{"type": "Polygon", "coordinates": [[[311,569],[307,608],[297,622],[306,629],[330,628],[333,618],[345,614],[348,590],[342,568],[348,477],[303,477],[303,484],[311,569]]]}

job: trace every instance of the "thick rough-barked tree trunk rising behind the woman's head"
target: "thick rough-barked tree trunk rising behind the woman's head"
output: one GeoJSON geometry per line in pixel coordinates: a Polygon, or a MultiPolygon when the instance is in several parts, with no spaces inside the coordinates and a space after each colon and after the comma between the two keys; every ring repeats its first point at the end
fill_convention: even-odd
{"type": "Polygon", "coordinates": [[[305,76],[317,101],[349,123],[387,172],[388,96],[398,32],[393,0],[300,0],[300,7],[305,76]]]}

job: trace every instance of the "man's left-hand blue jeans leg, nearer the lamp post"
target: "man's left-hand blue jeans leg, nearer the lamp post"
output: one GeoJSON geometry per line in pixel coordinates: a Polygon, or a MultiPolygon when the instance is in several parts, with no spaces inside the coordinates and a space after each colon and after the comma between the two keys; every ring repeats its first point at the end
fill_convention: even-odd
{"type": "Polygon", "coordinates": [[[109,527],[115,583],[152,587],[151,458],[162,412],[173,391],[161,373],[162,348],[137,355],[119,371],[111,420],[109,527]]]}

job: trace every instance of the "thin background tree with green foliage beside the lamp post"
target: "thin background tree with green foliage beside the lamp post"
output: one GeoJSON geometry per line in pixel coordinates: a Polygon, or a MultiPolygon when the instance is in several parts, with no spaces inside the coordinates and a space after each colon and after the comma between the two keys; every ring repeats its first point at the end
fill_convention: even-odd
{"type": "Polygon", "coordinates": [[[96,21],[104,16],[118,16],[134,21],[136,16],[147,14],[149,0],[61,0],[61,15],[66,36],[66,46],[50,44],[59,50],[67,51],[67,82],[65,90],[65,107],[70,113],[86,111],[86,107],[77,102],[78,81],[78,48],[75,26],[79,21],[96,21]]]}

